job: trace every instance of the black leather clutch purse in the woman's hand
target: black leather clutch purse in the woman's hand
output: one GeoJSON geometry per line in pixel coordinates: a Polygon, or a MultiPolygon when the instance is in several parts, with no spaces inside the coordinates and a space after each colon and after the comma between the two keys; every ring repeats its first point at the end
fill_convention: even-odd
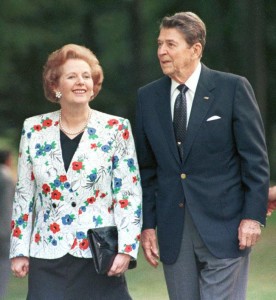
{"type": "MultiPolygon", "coordinates": [[[[94,266],[98,274],[106,274],[118,254],[118,231],[116,226],[88,229],[87,236],[94,266]]],[[[136,260],[129,262],[129,269],[136,267],[136,260]]]]}

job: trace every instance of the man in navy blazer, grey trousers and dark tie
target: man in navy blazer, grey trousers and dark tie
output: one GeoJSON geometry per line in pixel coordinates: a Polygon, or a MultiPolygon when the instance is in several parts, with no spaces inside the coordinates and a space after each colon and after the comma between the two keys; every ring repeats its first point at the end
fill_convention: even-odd
{"type": "Polygon", "coordinates": [[[138,91],[142,246],[156,267],[157,228],[170,299],[238,300],[265,224],[268,158],[250,84],[200,62],[205,37],[194,13],[165,17],[157,51],[165,76],[138,91]]]}

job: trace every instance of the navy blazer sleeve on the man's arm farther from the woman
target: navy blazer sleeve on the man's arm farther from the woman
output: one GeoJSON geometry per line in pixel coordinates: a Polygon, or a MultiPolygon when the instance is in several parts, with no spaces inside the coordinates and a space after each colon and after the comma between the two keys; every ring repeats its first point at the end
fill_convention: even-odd
{"type": "Polygon", "coordinates": [[[265,224],[269,163],[264,126],[253,89],[245,78],[238,80],[233,114],[236,148],[241,158],[241,178],[245,190],[243,219],[265,224]]]}

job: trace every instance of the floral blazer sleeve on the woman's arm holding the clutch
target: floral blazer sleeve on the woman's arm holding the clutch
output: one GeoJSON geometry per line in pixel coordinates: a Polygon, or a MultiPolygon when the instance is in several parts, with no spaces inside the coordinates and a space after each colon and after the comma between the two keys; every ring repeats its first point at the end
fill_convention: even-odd
{"type": "Polygon", "coordinates": [[[142,189],[131,125],[124,120],[113,157],[112,192],[119,253],[137,258],[142,227],[142,189]]]}

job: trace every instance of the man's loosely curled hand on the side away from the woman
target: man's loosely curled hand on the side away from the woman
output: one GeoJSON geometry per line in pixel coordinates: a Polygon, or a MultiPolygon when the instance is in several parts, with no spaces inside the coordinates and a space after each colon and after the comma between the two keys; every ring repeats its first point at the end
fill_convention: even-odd
{"type": "Polygon", "coordinates": [[[250,219],[241,221],[238,229],[240,250],[254,246],[261,235],[261,225],[259,222],[250,219]]]}

